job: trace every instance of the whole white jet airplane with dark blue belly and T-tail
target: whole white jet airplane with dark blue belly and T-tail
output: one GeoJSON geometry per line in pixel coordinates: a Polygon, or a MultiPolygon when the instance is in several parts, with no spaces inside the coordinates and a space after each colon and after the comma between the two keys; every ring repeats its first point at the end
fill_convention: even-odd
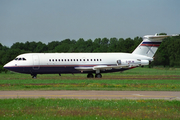
{"type": "Polygon", "coordinates": [[[149,65],[162,40],[179,35],[146,35],[132,53],[27,53],[4,65],[10,71],[31,74],[86,73],[101,78],[101,73],[129,70],[149,65]]]}

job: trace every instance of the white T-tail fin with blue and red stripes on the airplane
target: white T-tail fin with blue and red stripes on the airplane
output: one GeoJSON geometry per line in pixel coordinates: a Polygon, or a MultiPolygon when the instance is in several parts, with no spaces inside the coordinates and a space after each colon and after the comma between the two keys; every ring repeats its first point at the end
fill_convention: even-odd
{"type": "Polygon", "coordinates": [[[158,47],[160,46],[162,40],[169,36],[176,35],[146,35],[143,37],[143,41],[139,46],[132,52],[132,54],[144,55],[147,57],[153,57],[156,53],[158,47]]]}

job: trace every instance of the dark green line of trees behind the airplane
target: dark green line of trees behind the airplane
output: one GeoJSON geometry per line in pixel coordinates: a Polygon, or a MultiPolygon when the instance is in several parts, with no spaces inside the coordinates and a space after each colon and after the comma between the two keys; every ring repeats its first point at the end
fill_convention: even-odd
{"type": "MultiPolygon", "coordinates": [[[[165,33],[161,33],[165,34],[165,33]]],[[[23,53],[82,53],[82,52],[126,52],[131,53],[141,42],[142,37],[131,38],[96,38],[95,40],[65,39],[52,41],[48,44],[42,42],[16,42],[11,47],[0,43],[0,72],[5,71],[3,65],[23,53]]],[[[180,67],[180,37],[168,37],[163,40],[151,66],[163,65],[180,67]]]]}

